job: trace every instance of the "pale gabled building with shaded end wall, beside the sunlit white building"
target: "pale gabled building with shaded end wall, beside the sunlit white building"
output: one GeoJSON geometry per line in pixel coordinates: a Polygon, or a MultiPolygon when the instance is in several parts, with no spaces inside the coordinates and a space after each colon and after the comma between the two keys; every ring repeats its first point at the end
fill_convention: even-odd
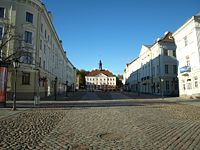
{"type": "Polygon", "coordinates": [[[138,93],[177,96],[177,65],[174,39],[172,33],[166,32],[153,45],[142,46],[139,56],[130,65],[132,73],[126,85],[138,93]]]}

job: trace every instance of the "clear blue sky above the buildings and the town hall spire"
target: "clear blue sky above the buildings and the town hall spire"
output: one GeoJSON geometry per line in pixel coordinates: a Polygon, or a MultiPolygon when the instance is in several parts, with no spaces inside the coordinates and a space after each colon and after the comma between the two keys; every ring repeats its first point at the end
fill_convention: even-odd
{"type": "Polygon", "coordinates": [[[43,0],[68,58],[78,69],[123,74],[142,44],[174,32],[200,12],[199,0],[43,0]]]}

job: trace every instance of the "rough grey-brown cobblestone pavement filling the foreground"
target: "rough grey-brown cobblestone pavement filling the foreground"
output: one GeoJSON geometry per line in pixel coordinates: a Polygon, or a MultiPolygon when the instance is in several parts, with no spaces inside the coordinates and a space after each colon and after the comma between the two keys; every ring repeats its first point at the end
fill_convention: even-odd
{"type": "Polygon", "coordinates": [[[0,119],[0,149],[200,149],[200,107],[30,109],[0,119]]]}

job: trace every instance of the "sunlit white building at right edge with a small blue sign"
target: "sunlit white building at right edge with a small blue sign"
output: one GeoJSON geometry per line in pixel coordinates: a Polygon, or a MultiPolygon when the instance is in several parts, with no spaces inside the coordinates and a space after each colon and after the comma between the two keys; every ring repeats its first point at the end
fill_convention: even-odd
{"type": "Polygon", "coordinates": [[[200,97],[200,14],[191,17],[174,34],[177,46],[181,97],[200,97]]]}

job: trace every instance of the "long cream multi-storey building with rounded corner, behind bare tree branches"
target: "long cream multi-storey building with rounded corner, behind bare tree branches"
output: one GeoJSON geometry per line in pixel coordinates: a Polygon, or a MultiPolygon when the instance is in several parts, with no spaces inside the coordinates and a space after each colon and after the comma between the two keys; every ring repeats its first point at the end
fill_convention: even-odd
{"type": "MultiPolygon", "coordinates": [[[[1,0],[0,31],[15,26],[23,41],[9,41],[7,56],[25,51],[17,73],[17,99],[33,99],[62,93],[76,83],[76,68],[68,60],[52,23],[52,14],[40,0],[1,0]],[[17,49],[16,49],[17,47],[17,49]]],[[[0,32],[3,35],[3,32],[0,32]]],[[[9,69],[8,99],[13,94],[14,70],[9,69]]]]}

